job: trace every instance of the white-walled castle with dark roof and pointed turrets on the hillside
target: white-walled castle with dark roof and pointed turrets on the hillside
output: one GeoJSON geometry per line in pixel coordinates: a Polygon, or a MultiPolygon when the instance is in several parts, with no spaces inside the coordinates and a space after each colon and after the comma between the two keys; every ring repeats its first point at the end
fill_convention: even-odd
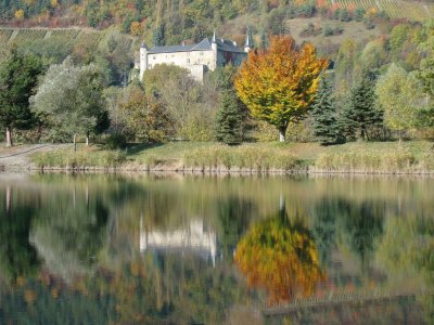
{"type": "Polygon", "coordinates": [[[214,70],[218,66],[231,63],[234,66],[241,65],[252,49],[252,42],[246,36],[244,49],[237,47],[237,43],[226,39],[219,39],[214,34],[209,40],[205,38],[197,44],[154,47],[149,49],[143,42],[140,47],[140,80],[143,79],[145,70],[157,64],[174,64],[187,68],[192,77],[199,81],[203,80],[204,74],[214,70]]]}

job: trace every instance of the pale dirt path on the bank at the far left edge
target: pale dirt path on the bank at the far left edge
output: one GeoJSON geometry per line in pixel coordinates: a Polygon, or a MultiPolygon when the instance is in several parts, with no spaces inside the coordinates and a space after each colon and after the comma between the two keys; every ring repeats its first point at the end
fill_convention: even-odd
{"type": "Polygon", "coordinates": [[[0,150],[0,170],[29,170],[35,167],[30,155],[71,146],[71,144],[31,144],[0,150]]]}

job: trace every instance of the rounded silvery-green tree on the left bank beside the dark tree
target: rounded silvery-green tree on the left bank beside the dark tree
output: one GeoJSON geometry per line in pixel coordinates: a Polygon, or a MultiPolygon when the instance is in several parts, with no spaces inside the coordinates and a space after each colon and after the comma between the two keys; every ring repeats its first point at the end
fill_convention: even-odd
{"type": "Polygon", "coordinates": [[[101,132],[107,127],[103,98],[103,82],[94,65],[75,66],[71,60],[50,66],[38,92],[33,98],[33,109],[55,126],[53,136],[74,136],[101,132]]]}

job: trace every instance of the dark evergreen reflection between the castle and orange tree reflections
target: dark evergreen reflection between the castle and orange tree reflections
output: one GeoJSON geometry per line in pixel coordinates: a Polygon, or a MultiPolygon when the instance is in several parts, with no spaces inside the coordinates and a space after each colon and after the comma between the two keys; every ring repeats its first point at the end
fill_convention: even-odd
{"type": "Polygon", "coordinates": [[[237,244],[247,229],[254,210],[254,204],[242,198],[229,197],[219,202],[218,219],[221,231],[217,238],[225,258],[232,259],[237,244]]]}

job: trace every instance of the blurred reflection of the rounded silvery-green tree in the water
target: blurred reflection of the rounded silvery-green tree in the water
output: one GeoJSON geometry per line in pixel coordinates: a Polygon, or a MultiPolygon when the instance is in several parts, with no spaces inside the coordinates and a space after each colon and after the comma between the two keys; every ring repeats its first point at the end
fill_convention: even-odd
{"type": "Polygon", "coordinates": [[[48,269],[71,281],[95,261],[106,235],[107,217],[98,198],[74,204],[62,195],[40,210],[30,240],[48,269]]]}

